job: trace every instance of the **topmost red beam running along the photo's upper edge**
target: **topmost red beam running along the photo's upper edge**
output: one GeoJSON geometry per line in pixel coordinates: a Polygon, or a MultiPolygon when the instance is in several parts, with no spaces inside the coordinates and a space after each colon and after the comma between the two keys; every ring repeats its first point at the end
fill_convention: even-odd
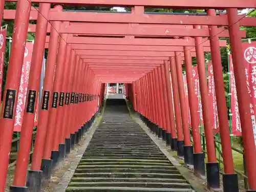
{"type": "MultiPolygon", "coordinates": [[[[6,2],[16,2],[17,0],[6,0],[6,2]]],[[[254,0],[33,0],[33,3],[51,3],[51,4],[87,4],[97,6],[147,6],[147,7],[168,7],[168,8],[255,8],[256,2],[254,0]]]]}

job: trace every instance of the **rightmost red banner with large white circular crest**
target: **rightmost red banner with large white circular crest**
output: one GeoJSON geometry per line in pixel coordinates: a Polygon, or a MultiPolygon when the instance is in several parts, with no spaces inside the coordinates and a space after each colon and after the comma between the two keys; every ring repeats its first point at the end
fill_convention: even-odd
{"type": "Polygon", "coordinates": [[[251,122],[256,145],[256,42],[243,42],[245,76],[250,95],[251,122]]]}

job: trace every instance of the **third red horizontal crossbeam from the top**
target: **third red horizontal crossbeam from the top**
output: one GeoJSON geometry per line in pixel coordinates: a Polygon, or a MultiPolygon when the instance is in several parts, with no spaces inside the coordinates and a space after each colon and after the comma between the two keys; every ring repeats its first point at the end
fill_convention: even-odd
{"type": "MultiPolygon", "coordinates": [[[[29,25],[29,32],[35,32],[36,25],[29,25]]],[[[50,25],[49,25],[50,26],[50,25]]],[[[218,28],[219,37],[229,37],[228,30],[218,28]]],[[[50,27],[48,27],[50,32],[50,27]]],[[[135,35],[135,36],[195,36],[195,37],[209,37],[208,28],[203,29],[181,29],[166,27],[147,27],[143,24],[102,24],[102,23],[70,23],[67,26],[63,23],[60,27],[60,33],[67,34],[91,34],[91,35],[135,35]],[[102,28],[104,30],[102,30],[102,28]]],[[[246,36],[245,30],[240,31],[241,37],[246,36]]]]}

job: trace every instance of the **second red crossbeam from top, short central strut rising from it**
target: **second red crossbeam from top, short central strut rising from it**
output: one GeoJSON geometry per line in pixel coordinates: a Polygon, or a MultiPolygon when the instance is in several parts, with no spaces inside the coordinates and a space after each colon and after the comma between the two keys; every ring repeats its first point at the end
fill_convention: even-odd
{"type": "MultiPolygon", "coordinates": [[[[15,10],[4,10],[4,19],[14,19],[15,10]]],[[[37,20],[38,12],[31,10],[30,20],[37,20]]],[[[242,18],[242,16],[239,16],[242,18]]],[[[204,15],[154,15],[154,14],[123,14],[123,13],[96,13],[96,12],[60,12],[53,9],[49,20],[67,22],[99,22],[99,23],[136,23],[136,24],[172,24],[172,25],[218,25],[228,26],[227,15],[221,17],[204,15]]],[[[256,23],[255,17],[246,17],[241,20],[241,26],[252,27],[256,23]]]]}

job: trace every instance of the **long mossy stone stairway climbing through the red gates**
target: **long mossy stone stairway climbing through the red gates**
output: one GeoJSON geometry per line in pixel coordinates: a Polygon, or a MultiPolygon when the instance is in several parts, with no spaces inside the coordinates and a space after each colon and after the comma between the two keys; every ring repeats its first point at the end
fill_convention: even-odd
{"type": "Polygon", "coordinates": [[[66,191],[193,191],[176,167],[129,116],[124,99],[107,99],[66,191]]]}

